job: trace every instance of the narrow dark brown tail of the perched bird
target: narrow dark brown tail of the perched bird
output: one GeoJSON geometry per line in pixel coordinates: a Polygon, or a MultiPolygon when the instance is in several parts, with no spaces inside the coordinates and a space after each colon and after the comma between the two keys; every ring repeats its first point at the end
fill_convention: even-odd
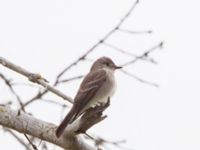
{"type": "Polygon", "coordinates": [[[62,121],[62,123],[56,129],[57,138],[61,136],[61,134],[63,133],[65,128],[68,126],[68,124],[70,124],[74,120],[75,116],[76,114],[74,112],[74,109],[72,108],[70,112],[67,114],[67,116],[65,117],[65,119],[62,121]]]}

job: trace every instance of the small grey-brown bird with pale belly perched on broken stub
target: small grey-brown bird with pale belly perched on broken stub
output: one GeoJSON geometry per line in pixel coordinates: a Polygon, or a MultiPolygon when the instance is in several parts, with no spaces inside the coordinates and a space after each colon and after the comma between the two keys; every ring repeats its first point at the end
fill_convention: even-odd
{"type": "Polygon", "coordinates": [[[120,68],[122,67],[116,66],[108,57],[101,57],[94,62],[80,85],[73,107],[56,129],[57,137],[60,137],[67,125],[87,109],[107,103],[108,97],[111,97],[116,89],[114,72],[120,68]]]}

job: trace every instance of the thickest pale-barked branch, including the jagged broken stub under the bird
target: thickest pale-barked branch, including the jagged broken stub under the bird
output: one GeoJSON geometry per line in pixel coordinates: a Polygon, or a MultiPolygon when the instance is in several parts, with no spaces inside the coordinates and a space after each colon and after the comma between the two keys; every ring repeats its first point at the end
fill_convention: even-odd
{"type": "MultiPolygon", "coordinates": [[[[96,106],[86,111],[67,127],[59,139],[55,135],[55,125],[38,120],[25,113],[20,113],[19,115],[18,111],[14,111],[9,107],[0,106],[0,124],[23,134],[29,134],[56,144],[67,150],[94,150],[95,148],[83,142],[78,134],[85,133],[93,125],[106,118],[106,116],[102,116],[102,112],[109,106],[109,102],[110,100],[106,105],[96,106]]],[[[30,142],[29,139],[28,141],[30,142]]],[[[31,145],[34,149],[37,149],[34,144],[31,145]]]]}

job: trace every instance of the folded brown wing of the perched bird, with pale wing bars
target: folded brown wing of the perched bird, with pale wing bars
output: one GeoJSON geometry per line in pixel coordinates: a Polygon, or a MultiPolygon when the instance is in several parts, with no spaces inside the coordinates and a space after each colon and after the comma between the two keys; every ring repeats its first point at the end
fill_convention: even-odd
{"type": "Polygon", "coordinates": [[[95,96],[95,93],[104,84],[106,76],[107,74],[105,70],[97,70],[90,72],[84,78],[74,99],[74,109],[76,109],[77,112],[74,119],[82,113],[88,102],[95,96]]]}

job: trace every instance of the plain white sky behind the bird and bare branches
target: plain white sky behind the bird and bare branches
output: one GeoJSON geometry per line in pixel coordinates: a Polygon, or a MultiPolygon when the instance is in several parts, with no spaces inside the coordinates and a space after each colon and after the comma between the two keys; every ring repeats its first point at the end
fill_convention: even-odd
{"type": "MultiPolygon", "coordinates": [[[[38,72],[50,83],[67,64],[104,36],[130,8],[132,0],[1,0],[0,55],[24,68],[38,72]]],[[[118,89],[112,98],[109,116],[90,133],[108,140],[126,139],[134,150],[200,149],[200,2],[198,0],[141,0],[123,25],[131,30],[153,30],[152,35],[117,33],[111,39],[125,50],[141,54],[164,41],[164,49],[153,53],[159,62],[139,62],[128,69],[160,88],[139,83],[116,73],[118,89]]],[[[107,55],[117,63],[125,56],[100,46],[89,58],[107,55]]],[[[87,73],[91,62],[80,64],[67,76],[87,73]]],[[[0,67],[19,82],[24,77],[0,67]]],[[[11,99],[0,81],[1,102],[11,99]]],[[[80,81],[58,87],[74,96],[80,81]]],[[[18,88],[23,100],[36,93],[18,88]]],[[[52,94],[52,99],[58,99],[52,94]]],[[[17,104],[17,103],[16,103],[17,104]]],[[[17,107],[16,107],[17,108],[17,107]]],[[[35,102],[29,108],[37,118],[60,122],[61,108],[35,102]]],[[[66,113],[63,113],[63,116],[66,113]]],[[[23,149],[8,133],[0,131],[1,149],[23,149]]],[[[114,149],[114,148],[112,148],[114,149]]]]}

